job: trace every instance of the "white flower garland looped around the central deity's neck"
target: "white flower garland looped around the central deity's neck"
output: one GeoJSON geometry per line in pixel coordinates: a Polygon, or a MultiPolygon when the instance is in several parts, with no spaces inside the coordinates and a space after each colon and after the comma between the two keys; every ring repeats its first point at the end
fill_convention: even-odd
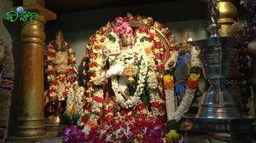
{"type": "MultiPolygon", "coordinates": [[[[143,93],[143,89],[145,87],[145,80],[148,77],[148,89],[156,89],[157,88],[157,80],[156,80],[156,67],[154,64],[154,56],[149,53],[146,54],[145,48],[152,48],[153,43],[149,43],[148,41],[140,42],[142,37],[148,37],[146,33],[137,32],[137,43],[135,43],[133,49],[126,49],[125,52],[120,54],[116,59],[115,63],[120,64],[122,66],[127,64],[133,64],[134,57],[137,54],[137,59],[141,60],[141,65],[139,67],[140,71],[138,74],[139,80],[137,81],[137,89],[133,95],[131,95],[128,100],[125,100],[122,94],[120,94],[119,83],[117,81],[116,76],[112,77],[112,89],[116,96],[116,101],[123,107],[132,107],[136,106],[140,100],[140,95],[143,93]]],[[[163,103],[163,100],[160,100],[159,95],[155,92],[155,90],[149,94],[150,102],[160,102],[163,103]]],[[[154,111],[153,114],[158,114],[159,112],[154,111]]]]}

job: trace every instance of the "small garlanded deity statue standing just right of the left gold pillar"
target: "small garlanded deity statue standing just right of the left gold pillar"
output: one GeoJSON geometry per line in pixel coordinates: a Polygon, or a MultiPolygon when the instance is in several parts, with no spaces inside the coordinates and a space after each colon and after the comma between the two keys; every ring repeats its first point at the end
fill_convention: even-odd
{"type": "Polygon", "coordinates": [[[69,90],[76,87],[74,84],[77,84],[75,81],[78,75],[73,49],[64,41],[61,31],[47,46],[45,56],[45,72],[49,83],[44,102],[46,122],[60,122],[60,116],[66,111],[69,90]]]}

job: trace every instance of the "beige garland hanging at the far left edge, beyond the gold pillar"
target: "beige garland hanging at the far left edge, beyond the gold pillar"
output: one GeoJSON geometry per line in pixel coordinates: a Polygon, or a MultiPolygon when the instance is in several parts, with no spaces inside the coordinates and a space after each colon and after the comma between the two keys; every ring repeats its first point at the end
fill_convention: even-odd
{"type": "Polygon", "coordinates": [[[0,142],[6,135],[9,121],[9,106],[14,88],[15,66],[14,58],[8,44],[4,41],[4,37],[0,35],[0,46],[4,50],[4,57],[0,63],[0,142]]]}

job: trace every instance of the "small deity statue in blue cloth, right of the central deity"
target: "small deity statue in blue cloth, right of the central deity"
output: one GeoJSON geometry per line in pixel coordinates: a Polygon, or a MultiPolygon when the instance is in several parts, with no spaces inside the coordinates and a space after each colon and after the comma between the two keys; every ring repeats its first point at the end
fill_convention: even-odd
{"type": "MultiPolygon", "coordinates": [[[[169,88],[166,89],[168,120],[178,121],[185,112],[188,112],[189,106],[196,98],[195,95],[201,94],[198,86],[201,77],[201,60],[199,58],[201,51],[191,45],[189,41],[192,41],[189,32],[184,32],[181,42],[177,44],[177,54],[172,54],[173,56],[170,57],[171,60],[176,59],[177,62],[172,64],[170,70],[166,71],[166,81],[172,77],[173,73],[174,83],[173,91],[169,88]],[[174,101],[174,105],[172,101],[174,101]]],[[[197,100],[195,101],[197,102],[197,100]]],[[[196,109],[192,112],[196,112],[196,109]]]]}

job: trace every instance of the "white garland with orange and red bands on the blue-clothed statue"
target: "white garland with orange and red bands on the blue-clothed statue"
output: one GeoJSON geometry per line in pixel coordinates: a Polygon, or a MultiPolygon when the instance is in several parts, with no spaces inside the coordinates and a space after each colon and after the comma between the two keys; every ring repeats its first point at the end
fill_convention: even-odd
{"type": "Polygon", "coordinates": [[[195,89],[198,88],[200,71],[201,71],[201,60],[199,60],[200,51],[191,48],[191,60],[189,77],[187,81],[187,89],[183,96],[183,100],[180,105],[175,109],[175,97],[174,97],[174,79],[173,79],[173,64],[171,67],[168,66],[171,62],[176,63],[177,61],[177,51],[172,54],[168,62],[166,62],[166,75],[164,77],[165,81],[165,92],[166,92],[166,112],[168,120],[179,121],[183,117],[184,113],[189,110],[189,106],[195,96],[195,89]]]}

